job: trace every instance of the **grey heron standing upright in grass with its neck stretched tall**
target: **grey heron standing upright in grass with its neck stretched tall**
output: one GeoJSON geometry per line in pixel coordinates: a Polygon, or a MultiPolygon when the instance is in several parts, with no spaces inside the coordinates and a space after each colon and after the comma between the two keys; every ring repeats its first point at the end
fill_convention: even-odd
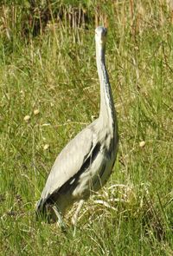
{"type": "Polygon", "coordinates": [[[64,225],[63,216],[67,208],[78,201],[72,220],[76,224],[83,202],[103,187],[112,174],[118,152],[118,120],[106,69],[106,35],[106,27],[96,28],[99,117],[61,150],[35,208],[38,215],[49,213],[50,219],[55,218],[60,226],[64,225]]]}

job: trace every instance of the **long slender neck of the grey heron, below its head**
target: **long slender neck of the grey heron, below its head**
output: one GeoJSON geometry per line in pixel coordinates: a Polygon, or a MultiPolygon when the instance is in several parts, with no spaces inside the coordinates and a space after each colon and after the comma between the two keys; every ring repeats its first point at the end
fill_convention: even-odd
{"type": "Polygon", "coordinates": [[[112,98],[112,89],[106,70],[105,46],[96,42],[97,69],[100,82],[100,112],[99,119],[108,128],[113,130],[117,127],[116,113],[112,98]]]}

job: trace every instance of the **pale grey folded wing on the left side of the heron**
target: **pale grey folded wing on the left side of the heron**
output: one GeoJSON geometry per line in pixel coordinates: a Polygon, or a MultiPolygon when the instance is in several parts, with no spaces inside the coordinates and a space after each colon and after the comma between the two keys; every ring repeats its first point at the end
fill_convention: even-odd
{"type": "Polygon", "coordinates": [[[90,156],[97,143],[97,136],[93,132],[91,125],[83,129],[67,146],[54,161],[54,165],[48,175],[48,180],[42,191],[42,203],[51,194],[58,191],[70,178],[80,171],[80,167],[90,156]]]}

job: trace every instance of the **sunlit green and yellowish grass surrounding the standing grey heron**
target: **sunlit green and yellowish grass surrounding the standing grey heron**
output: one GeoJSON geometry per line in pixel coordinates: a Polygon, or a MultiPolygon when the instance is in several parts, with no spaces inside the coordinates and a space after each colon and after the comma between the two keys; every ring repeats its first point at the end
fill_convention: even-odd
{"type": "MultiPolygon", "coordinates": [[[[91,16],[96,5],[86,4],[91,16]]],[[[119,155],[106,187],[81,210],[75,236],[76,206],[61,233],[35,220],[35,202],[61,148],[99,113],[94,23],[70,29],[68,20],[52,20],[29,38],[3,30],[0,255],[173,254],[171,11],[160,0],[115,1],[99,12],[109,23],[119,155]]]]}

